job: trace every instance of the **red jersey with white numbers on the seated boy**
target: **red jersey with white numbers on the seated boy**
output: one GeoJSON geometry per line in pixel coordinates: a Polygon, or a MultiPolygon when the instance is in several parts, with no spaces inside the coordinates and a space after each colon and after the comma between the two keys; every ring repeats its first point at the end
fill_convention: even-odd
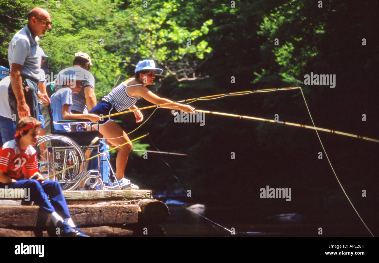
{"type": "Polygon", "coordinates": [[[4,143],[0,148],[0,170],[3,170],[7,176],[18,180],[21,177],[19,171],[22,168],[24,168],[23,173],[27,178],[38,172],[36,150],[29,145],[25,150],[20,151],[16,140],[4,143]]]}

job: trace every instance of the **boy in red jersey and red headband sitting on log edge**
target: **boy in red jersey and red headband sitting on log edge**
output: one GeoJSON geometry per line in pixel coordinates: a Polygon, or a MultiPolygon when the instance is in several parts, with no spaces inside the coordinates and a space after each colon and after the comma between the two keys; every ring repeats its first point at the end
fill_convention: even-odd
{"type": "Polygon", "coordinates": [[[61,236],[88,237],[71,219],[61,185],[57,181],[43,181],[38,172],[36,145],[42,123],[33,117],[23,117],[16,126],[16,139],[0,148],[0,188],[26,188],[30,200],[45,211],[61,236]],[[21,178],[23,169],[25,179],[21,178]],[[50,200],[47,198],[49,196],[50,200]]]}

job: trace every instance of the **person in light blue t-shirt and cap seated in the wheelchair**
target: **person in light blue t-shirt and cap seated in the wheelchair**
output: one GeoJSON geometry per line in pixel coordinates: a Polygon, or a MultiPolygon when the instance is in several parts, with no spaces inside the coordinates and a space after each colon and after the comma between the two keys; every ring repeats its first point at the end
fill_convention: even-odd
{"type": "MultiPolygon", "coordinates": [[[[72,93],[80,92],[83,87],[83,76],[77,75],[74,70],[67,70],[57,76],[58,81],[63,86],[51,96],[51,109],[54,121],[69,119],[88,119],[93,122],[100,120],[96,114],[72,114],[72,93]]],[[[54,124],[55,131],[70,131],[69,124],[54,124]]]]}

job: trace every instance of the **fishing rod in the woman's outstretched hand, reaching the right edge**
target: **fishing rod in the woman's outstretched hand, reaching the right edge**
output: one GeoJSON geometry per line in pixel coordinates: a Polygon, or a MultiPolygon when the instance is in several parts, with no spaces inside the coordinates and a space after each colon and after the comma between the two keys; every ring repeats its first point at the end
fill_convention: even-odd
{"type": "Polygon", "coordinates": [[[263,118],[244,116],[244,115],[237,115],[237,114],[229,114],[229,113],[223,113],[223,112],[215,112],[215,111],[209,111],[209,110],[196,110],[196,112],[203,112],[203,113],[208,113],[208,114],[217,114],[217,115],[229,116],[229,117],[237,117],[237,118],[249,119],[249,120],[267,121],[267,122],[272,122],[272,123],[285,124],[285,125],[290,125],[290,126],[296,126],[296,127],[307,128],[307,129],[313,129],[313,130],[316,129],[318,131],[332,132],[332,133],[335,133],[335,134],[350,136],[350,137],[354,137],[354,138],[358,138],[358,139],[363,139],[363,140],[368,140],[368,141],[371,141],[371,142],[378,142],[379,143],[379,140],[373,139],[373,138],[369,138],[369,137],[363,137],[363,136],[360,136],[360,135],[351,134],[351,133],[347,133],[347,132],[334,131],[334,130],[330,130],[330,129],[319,128],[319,127],[309,126],[309,125],[304,125],[304,124],[291,123],[291,122],[287,122],[287,121],[276,121],[276,120],[270,120],[270,119],[263,119],[263,118]]]}

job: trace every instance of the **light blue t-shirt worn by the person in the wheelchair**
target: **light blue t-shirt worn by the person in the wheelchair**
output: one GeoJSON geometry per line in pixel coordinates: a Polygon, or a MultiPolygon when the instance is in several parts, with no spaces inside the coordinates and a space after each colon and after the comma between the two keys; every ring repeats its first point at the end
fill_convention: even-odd
{"type": "MultiPolygon", "coordinates": [[[[71,113],[72,106],[72,90],[70,88],[62,88],[55,92],[50,97],[51,110],[53,114],[53,121],[63,120],[62,108],[64,104],[69,104],[69,113],[71,113]]],[[[55,131],[70,131],[69,124],[54,124],[55,131]]]]}

